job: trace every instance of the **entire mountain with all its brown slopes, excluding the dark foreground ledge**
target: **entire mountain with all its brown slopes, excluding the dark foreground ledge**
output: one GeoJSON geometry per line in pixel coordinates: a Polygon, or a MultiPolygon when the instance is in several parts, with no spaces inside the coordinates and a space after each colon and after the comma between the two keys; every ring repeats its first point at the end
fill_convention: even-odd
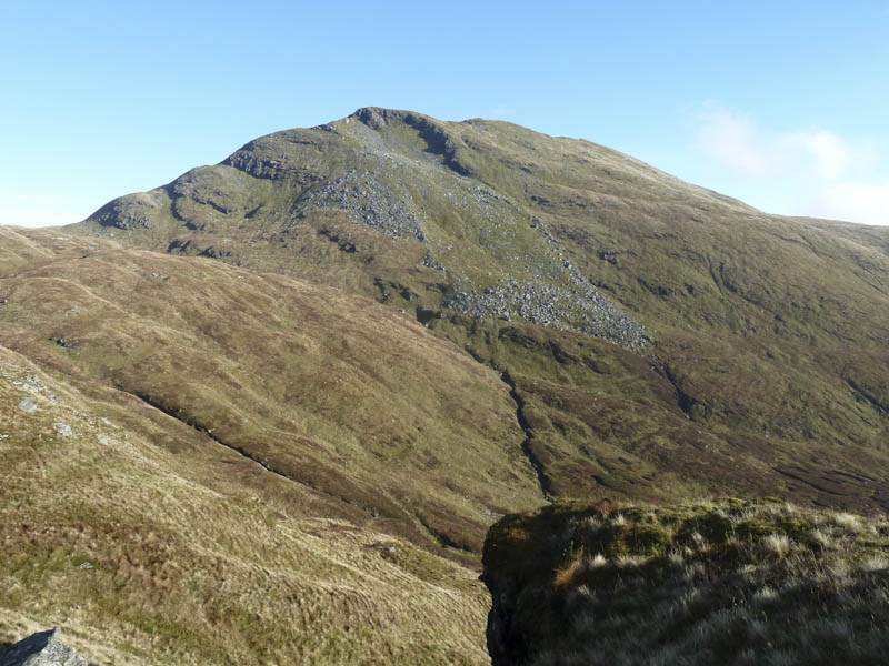
{"type": "Polygon", "coordinates": [[[887,249],[586,141],[384,109],[0,228],[0,642],[481,664],[505,514],[877,514],[887,249]]]}

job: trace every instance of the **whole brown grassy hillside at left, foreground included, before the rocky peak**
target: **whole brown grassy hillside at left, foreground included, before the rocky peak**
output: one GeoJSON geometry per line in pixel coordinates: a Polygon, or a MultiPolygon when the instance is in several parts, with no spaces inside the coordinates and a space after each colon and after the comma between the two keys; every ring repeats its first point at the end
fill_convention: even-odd
{"type": "Polygon", "coordinates": [[[432,534],[540,501],[493,372],[330,287],[0,231],[36,258],[0,266],[0,642],[486,663],[478,572],[432,534]]]}

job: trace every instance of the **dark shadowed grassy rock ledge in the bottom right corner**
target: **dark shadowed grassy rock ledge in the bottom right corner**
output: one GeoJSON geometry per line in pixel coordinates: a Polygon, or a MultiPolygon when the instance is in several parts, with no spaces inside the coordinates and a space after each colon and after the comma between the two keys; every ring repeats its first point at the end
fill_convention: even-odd
{"type": "Polygon", "coordinates": [[[493,525],[483,564],[493,666],[887,663],[886,516],[553,505],[493,525]]]}

